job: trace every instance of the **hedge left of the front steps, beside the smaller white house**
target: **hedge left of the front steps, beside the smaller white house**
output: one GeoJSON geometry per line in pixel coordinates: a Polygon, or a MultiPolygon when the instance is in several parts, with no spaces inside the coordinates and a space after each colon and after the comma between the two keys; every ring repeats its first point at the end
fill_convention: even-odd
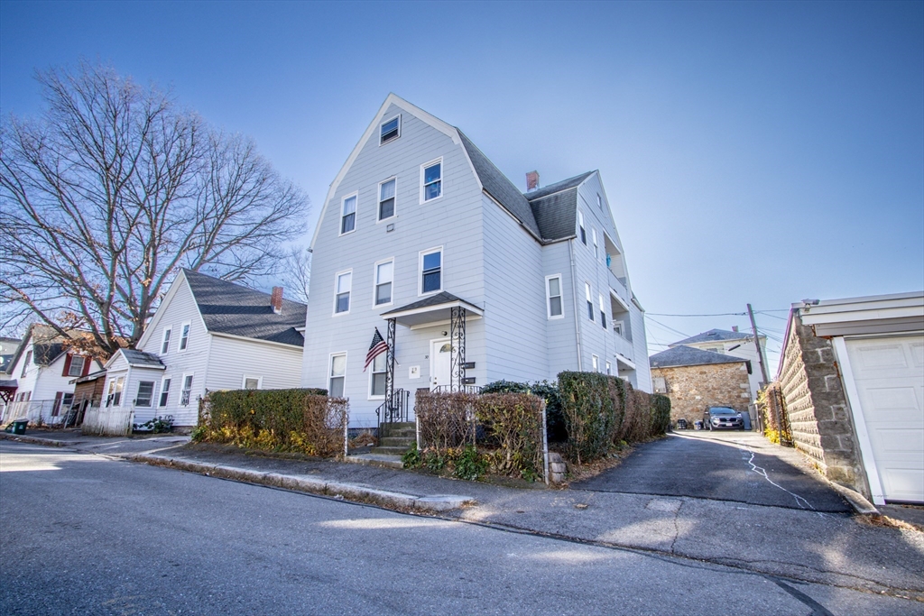
{"type": "Polygon", "coordinates": [[[213,392],[203,405],[193,438],[277,452],[334,456],[343,453],[348,421],[348,401],[327,397],[327,390],[213,392]]]}

